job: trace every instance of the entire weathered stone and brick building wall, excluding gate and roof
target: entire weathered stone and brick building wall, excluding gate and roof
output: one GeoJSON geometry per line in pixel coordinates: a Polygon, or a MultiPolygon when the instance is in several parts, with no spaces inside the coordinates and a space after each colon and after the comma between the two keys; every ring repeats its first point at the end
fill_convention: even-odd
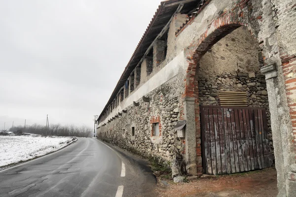
{"type": "Polygon", "coordinates": [[[295,196],[295,7],[294,0],[207,0],[191,18],[175,15],[168,31],[165,60],[159,66],[154,64],[151,73],[146,68],[152,56],[142,63],[139,86],[115,109],[122,110],[121,106],[129,103],[126,113],[118,117],[114,110],[109,113],[106,118],[112,120],[106,124],[104,119],[98,136],[138,154],[156,156],[164,163],[172,161],[177,147],[175,150],[185,151],[190,166],[197,165],[197,172],[201,172],[199,104],[217,104],[222,90],[246,91],[249,106],[267,108],[269,103],[279,195],[295,196]],[[238,39],[227,40],[226,36],[226,43],[214,45],[240,26],[251,32],[252,39],[239,33],[238,39]],[[247,42],[252,46],[244,47],[247,42]],[[235,46],[233,53],[227,52],[230,45],[235,46]],[[219,46],[222,49],[215,51],[219,46]],[[168,70],[169,74],[162,72],[180,54],[185,70],[181,69],[177,76],[173,69],[168,70]],[[212,59],[204,64],[207,57],[212,59]],[[171,72],[175,77],[169,76],[171,72]],[[170,80],[160,83],[163,77],[159,73],[170,80]],[[151,81],[153,76],[158,78],[151,81]],[[161,85],[149,89],[156,83],[161,85]],[[138,98],[144,92],[150,102],[138,98]],[[134,105],[131,98],[137,98],[134,105]],[[138,102],[139,106],[135,106],[138,102]],[[187,121],[185,139],[172,130],[182,119],[187,121]],[[156,121],[160,121],[161,135],[151,136],[151,124],[156,121]],[[131,127],[135,127],[135,136],[131,136],[131,127]]]}

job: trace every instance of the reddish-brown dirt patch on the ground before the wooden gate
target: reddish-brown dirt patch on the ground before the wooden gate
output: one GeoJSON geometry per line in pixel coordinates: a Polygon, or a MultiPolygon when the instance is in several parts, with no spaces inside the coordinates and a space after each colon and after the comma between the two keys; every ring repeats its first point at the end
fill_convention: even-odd
{"type": "Polygon", "coordinates": [[[275,168],[173,183],[159,178],[159,197],[276,197],[275,168]]]}

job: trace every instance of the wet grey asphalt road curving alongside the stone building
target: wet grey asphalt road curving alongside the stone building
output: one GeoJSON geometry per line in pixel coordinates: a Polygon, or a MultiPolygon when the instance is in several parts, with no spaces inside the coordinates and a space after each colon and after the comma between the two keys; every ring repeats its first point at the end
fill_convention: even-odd
{"type": "Polygon", "coordinates": [[[0,171],[0,197],[154,197],[144,161],[94,138],[0,171]]]}

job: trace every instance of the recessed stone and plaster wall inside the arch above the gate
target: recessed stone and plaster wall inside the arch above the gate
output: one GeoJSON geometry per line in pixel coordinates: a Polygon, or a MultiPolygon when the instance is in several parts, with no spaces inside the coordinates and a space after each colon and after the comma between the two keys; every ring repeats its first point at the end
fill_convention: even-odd
{"type": "Polygon", "coordinates": [[[272,131],[265,76],[258,43],[245,27],[240,27],[219,40],[202,57],[197,73],[200,105],[220,105],[219,93],[246,92],[248,107],[266,110],[268,140],[272,131]]]}

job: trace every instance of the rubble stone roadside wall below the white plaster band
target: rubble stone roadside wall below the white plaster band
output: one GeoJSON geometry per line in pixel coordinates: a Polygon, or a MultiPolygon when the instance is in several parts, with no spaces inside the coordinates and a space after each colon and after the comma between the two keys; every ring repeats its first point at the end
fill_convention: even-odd
{"type": "MultiPolygon", "coordinates": [[[[170,164],[177,152],[184,152],[184,138],[177,137],[173,127],[183,111],[180,75],[128,106],[121,115],[99,129],[98,137],[144,157],[156,157],[160,164],[170,164]],[[146,101],[144,101],[146,100],[146,101]],[[148,101],[149,100],[149,101],[148,101]],[[159,123],[159,136],[154,136],[152,124],[159,123]],[[135,128],[132,136],[131,128],[135,128]]],[[[173,172],[178,171],[177,168],[173,172]]],[[[175,172],[175,174],[178,172],[175,172]]]]}

